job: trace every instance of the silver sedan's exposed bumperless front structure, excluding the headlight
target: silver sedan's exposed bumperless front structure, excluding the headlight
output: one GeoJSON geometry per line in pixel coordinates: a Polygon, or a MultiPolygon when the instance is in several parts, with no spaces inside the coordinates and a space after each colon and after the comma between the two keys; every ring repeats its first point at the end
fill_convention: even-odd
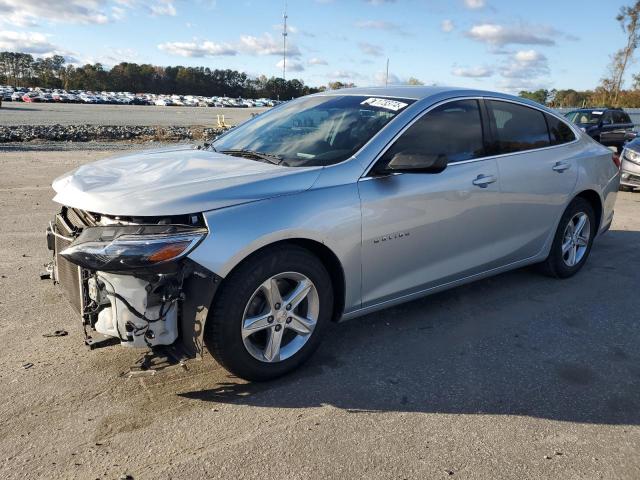
{"type": "Polygon", "coordinates": [[[85,343],[94,347],[98,339],[130,347],[174,345],[186,356],[201,355],[204,324],[221,278],[188,257],[176,261],[169,273],[82,268],[60,252],[86,226],[82,212],[63,208],[47,229],[51,277],[79,314],[85,343]]]}

